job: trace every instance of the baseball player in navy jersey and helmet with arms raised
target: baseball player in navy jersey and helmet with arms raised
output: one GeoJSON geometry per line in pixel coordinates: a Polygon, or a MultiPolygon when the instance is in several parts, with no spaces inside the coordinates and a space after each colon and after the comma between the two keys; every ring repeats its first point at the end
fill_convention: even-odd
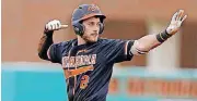
{"type": "Polygon", "coordinates": [[[53,43],[53,33],[67,25],[50,21],[38,47],[43,60],[60,63],[67,80],[69,101],[105,101],[114,63],[130,61],[160,46],[179,29],[184,11],[176,12],[169,27],[138,40],[103,39],[104,20],[99,7],[82,4],[72,14],[77,39],[53,43]]]}

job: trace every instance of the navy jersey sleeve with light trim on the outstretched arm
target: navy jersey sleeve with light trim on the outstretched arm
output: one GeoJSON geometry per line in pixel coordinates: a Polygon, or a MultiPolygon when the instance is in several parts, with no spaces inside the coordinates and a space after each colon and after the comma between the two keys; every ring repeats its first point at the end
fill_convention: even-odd
{"type": "Polygon", "coordinates": [[[107,61],[113,63],[130,61],[134,54],[130,49],[134,45],[134,40],[120,40],[115,39],[107,43],[107,61]]]}

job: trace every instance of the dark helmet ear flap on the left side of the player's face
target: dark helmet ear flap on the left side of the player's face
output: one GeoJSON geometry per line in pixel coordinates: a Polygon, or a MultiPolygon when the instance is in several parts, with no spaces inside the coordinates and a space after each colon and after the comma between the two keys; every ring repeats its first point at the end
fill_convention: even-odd
{"type": "Polygon", "coordinates": [[[83,36],[84,34],[84,26],[80,23],[73,25],[74,33],[79,36],[83,36]]]}

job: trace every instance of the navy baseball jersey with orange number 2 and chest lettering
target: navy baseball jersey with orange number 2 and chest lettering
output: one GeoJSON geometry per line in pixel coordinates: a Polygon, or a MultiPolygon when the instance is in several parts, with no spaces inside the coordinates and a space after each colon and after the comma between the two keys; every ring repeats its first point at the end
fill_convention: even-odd
{"type": "Polygon", "coordinates": [[[103,39],[78,46],[77,39],[54,43],[50,61],[65,71],[69,101],[105,101],[113,65],[130,61],[134,40],[103,39]]]}

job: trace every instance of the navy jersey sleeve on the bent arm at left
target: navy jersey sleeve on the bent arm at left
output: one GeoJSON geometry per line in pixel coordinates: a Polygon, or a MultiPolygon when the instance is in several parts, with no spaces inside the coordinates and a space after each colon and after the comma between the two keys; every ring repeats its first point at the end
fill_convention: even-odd
{"type": "Polygon", "coordinates": [[[51,45],[48,50],[49,60],[53,63],[61,63],[62,50],[63,50],[62,42],[51,45]]]}

